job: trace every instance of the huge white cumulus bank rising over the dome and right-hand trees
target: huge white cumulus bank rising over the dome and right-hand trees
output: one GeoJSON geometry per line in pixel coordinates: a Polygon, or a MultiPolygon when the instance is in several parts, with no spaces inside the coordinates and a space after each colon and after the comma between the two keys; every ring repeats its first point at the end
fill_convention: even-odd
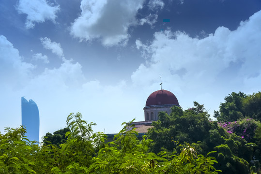
{"type": "Polygon", "coordinates": [[[163,87],[182,95],[181,100],[199,99],[207,109],[217,107],[232,91],[257,92],[261,86],[260,33],[261,11],[236,30],[219,27],[203,39],[184,32],[155,32],[150,44],[136,41],[147,61],[132,74],[133,83],[157,86],[156,77],[162,76],[163,87]],[[204,96],[208,97],[202,100],[204,96]]]}

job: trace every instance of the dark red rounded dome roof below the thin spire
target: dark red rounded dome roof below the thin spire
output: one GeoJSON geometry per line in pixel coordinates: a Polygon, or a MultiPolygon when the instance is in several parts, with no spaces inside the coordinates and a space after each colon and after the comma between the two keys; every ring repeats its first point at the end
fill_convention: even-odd
{"type": "Polygon", "coordinates": [[[157,90],[153,92],[147,99],[146,106],[152,105],[163,105],[163,104],[173,104],[179,105],[178,99],[172,92],[167,90],[157,90]]]}

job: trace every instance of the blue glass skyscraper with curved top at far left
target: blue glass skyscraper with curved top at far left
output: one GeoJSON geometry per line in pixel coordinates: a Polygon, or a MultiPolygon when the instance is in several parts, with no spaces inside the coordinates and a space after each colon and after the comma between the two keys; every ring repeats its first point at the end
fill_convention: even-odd
{"type": "Polygon", "coordinates": [[[39,142],[39,110],[33,100],[28,102],[24,97],[22,97],[22,125],[26,128],[27,138],[39,142]]]}

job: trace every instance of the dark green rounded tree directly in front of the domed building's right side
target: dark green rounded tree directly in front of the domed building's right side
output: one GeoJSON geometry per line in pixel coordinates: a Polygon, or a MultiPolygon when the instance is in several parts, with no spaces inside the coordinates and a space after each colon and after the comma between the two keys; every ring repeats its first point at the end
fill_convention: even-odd
{"type": "Polygon", "coordinates": [[[161,112],[159,119],[153,122],[154,128],[148,131],[148,137],[153,141],[152,151],[158,153],[161,148],[172,151],[176,145],[173,140],[181,143],[203,141],[209,136],[211,123],[204,105],[194,102],[193,108],[183,111],[174,106],[170,115],[161,112]]]}

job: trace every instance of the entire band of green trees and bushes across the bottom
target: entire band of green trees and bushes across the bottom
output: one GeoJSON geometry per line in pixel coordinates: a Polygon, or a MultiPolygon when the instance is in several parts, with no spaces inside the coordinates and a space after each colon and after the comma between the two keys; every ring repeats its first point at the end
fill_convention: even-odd
{"type": "MultiPolygon", "coordinates": [[[[0,174],[261,174],[261,92],[232,93],[210,120],[204,105],[159,114],[142,140],[132,122],[114,141],[71,113],[40,145],[24,127],[0,133],[0,174]],[[222,171],[222,172],[221,172],[222,171]]],[[[134,121],[134,120],[132,120],[134,121]]]]}

